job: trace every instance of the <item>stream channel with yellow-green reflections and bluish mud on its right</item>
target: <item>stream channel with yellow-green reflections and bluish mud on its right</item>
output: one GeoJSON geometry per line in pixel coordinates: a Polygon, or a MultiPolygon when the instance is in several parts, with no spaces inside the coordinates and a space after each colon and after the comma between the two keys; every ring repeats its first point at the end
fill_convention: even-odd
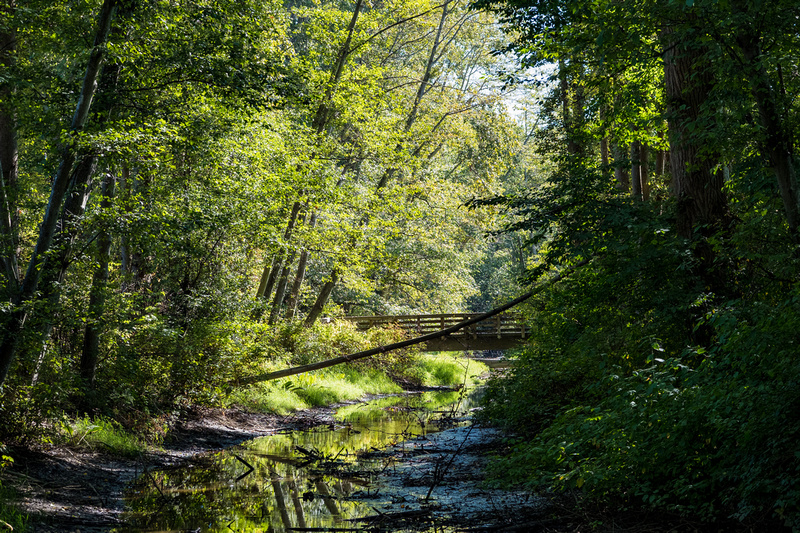
{"type": "Polygon", "coordinates": [[[475,531],[540,517],[525,493],[483,489],[473,426],[479,389],[384,397],[336,422],[256,438],[147,473],[129,492],[125,532],[475,531]],[[488,526],[487,526],[488,527],[488,526]]]}

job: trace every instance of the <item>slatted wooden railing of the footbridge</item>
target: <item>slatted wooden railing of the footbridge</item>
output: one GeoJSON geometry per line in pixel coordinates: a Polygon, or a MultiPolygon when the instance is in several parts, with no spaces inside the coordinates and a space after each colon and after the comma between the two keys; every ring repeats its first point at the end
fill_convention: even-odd
{"type": "MultiPolygon", "coordinates": [[[[479,313],[446,313],[432,315],[384,315],[384,316],[349,316],[346,320],[356,324],[358,329],[367,330],[381,326],[396,326],[415,336],[435,333],[455,326],[479,313]]],[[[497,337],[526,338],[525,322],[522,317],[513,313],[503,313],[487,318],[476,324],[451,334],[452,337],[497,337]]]]}

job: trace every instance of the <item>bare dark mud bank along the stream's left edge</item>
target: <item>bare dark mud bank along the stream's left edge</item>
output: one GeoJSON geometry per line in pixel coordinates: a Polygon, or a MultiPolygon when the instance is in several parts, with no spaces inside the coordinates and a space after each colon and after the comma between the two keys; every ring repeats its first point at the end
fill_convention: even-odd
{"type": "Polygon", "coordinates": [[[197,409],[170,432],[158,451],[135,459],[63,446],[13,450],[15,464],[3,482],[17,487],[22,510],[34,532],[99,533],[123,526],[123,495],[146,471],[191,461],[197,454],[281,431],[333,423],[338,406],[291,416],[245,413],[233,409],[197,409]]]}

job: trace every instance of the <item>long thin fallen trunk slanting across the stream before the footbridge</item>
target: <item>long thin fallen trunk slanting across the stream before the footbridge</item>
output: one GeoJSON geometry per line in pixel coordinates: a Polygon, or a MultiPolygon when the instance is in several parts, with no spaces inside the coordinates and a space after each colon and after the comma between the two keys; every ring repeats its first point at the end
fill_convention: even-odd
{"type": "MultiPolygon", "coordinates": [[[[561,281],[569,274],[571,274],[576,268],[582,267],[586,263],[588,263],[588,259],[584,259],[580,263],[576,264],[573,267],[568,268],[564,272],[557,274],[555,277],[550,279],[551,283],[556,283],[561,281]]],[[[450,326],[449,328],[445,328],[441,331],[437,331],[435,333],[428,333],[427,335],[422,335],[421,337],[415,337],[413,339],[404,340],[401,342],[395,342],[393,344],[387,344],[386,346],[378,346],[377,348],[372,348],[370,350],[365,350],[363,352],[356,352],[348,355],[341,355],[339,357],[334,357],[333,359],[327,359],[325,361],[319,361],[317,363],[311,363],[308,365],[301,365],[296,366],[293,368],[286,368],[284,370],[278,370],[276,372],[269,372],[267,374],[260,374],[257,376],[251,376],[249,378],[245,378],[243,380],[239,380],[236,382],[237,385],[252,385],[253,383],[260,383],[262,381],[270,381],[273,379],[280,379],[285,378],[287,376],[294,376],[295,374],[302,374],[304,372],[311,372],[312,370],[320,370],[323,368],[328,368],[329,366],[336,366],[342,363],[349,363],[350,361],[357,361],[359,359],[364,359],[366,357],[371,357],[373,355],[378,355],[381,353],[390,352],[392,350],[399,350],[400,348],[406,348],[408,346],[414,346],[415,344],[422,344],[423,342],[430,341],[433,339],[438,339],[440,337],[445,337],[450,335],[451,333],[455,333],[460,329],[464,329],[467,326],[471,326],[472,324],[477,324],[478,322],[482,322],[487,318],[491,318],[493,316],[499,315],[503,311],[508,311],[515,305],[518,305],[534,294],[541,291],[545,285],[540,285],[535,289],[523,294],[519,298],[511,300],[507,304],[501,305],[496,309],[492,309],[488,313],[483,313],[482,315],[478,315],[476,317],[470,318],[468,320],[464,320],[463,322],[459,322],[454,326],[450,326]]]]}

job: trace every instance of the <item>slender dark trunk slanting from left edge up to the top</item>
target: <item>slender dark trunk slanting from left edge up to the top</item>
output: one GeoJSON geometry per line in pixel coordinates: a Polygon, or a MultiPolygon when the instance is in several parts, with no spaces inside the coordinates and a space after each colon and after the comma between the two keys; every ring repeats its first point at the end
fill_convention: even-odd
{"type": "MultiPolygon", "coordinates": [[[[83,78],[83,86],[70,125],[70,132],[72,135],[77,134],[83,129],[89,117],[92,99],[97,90],[97,80],[105,58],[105,45],[111,31],[111,22],[114,19],[115,7],[116,0],[105,0],[100,10],[94,46],[89,56],[86,73],[83,78]]],[[[53,243],[56,223],[64,198],[67,194],[67,187],[72,175],[72,166],[76,158],[77,154],[72,146],[65,145],[62,147],[61,162],[53,178],[50,198],[45,209],[42,224],[39,227],[39,236],[33,253],[31,254],[22,286],[11,298],[15,309],[9,314],[8,322],[5,325],[6,327],[3,328],[2,341],[0,341],[0,385],[5,382],[11,368],[11,362],[16,356],[21,337],[20,334],[25,325],[27,314],[22,304],[31,300],[36,294],[36,289],[41,278],[42,266],[46,254],[50,251],[50,247],[53,243]]]]}

